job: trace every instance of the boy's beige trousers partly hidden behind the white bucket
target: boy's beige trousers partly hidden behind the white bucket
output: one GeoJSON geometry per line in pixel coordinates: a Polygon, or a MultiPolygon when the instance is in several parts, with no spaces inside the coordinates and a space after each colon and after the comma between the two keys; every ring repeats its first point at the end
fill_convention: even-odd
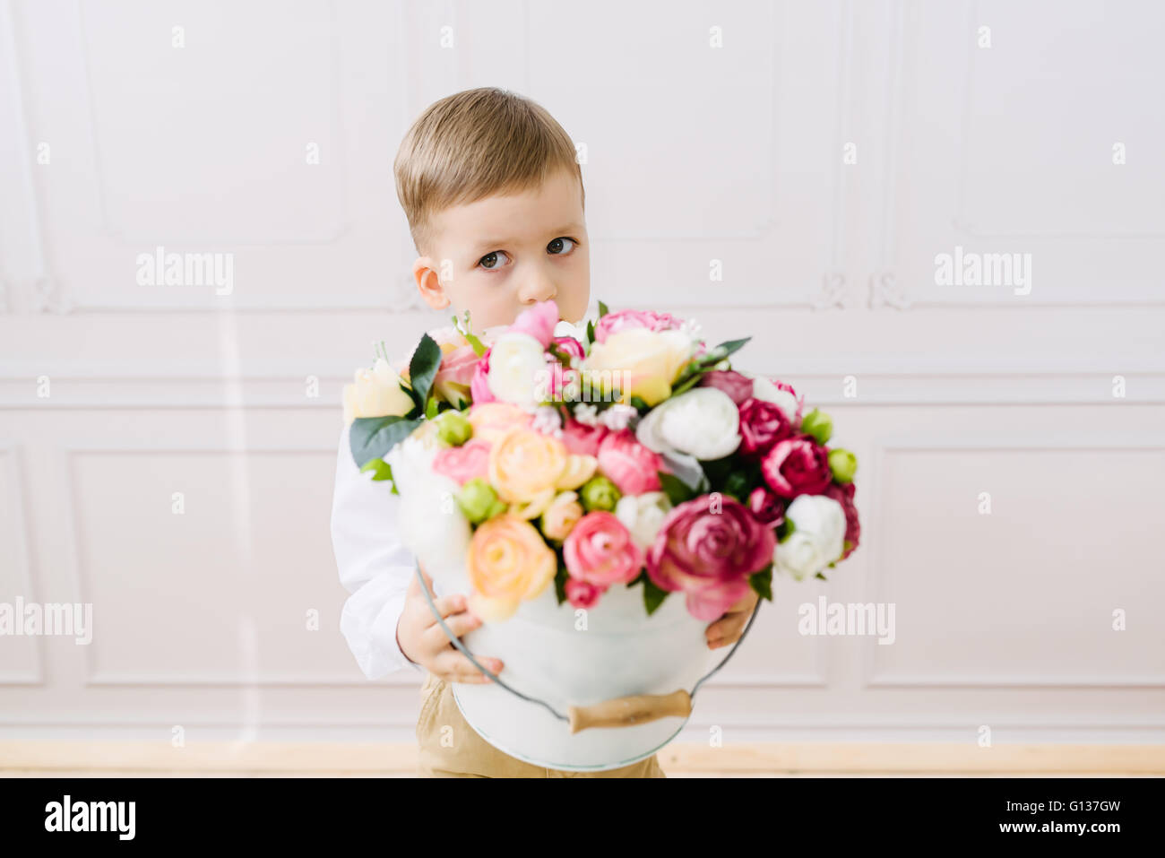
{"type": "Polygon", "coordinates": [[[564,772],[535,766],[499,751],[478,736],[453,699],[447,682],[428,673],[417,719],[422,778],[666,778],[656,754],[606,772],[564,772]],[[446,738],[443,744],[442,739],[446,738]],[[451,739],[451,741],[450,741],[451,739]]]}

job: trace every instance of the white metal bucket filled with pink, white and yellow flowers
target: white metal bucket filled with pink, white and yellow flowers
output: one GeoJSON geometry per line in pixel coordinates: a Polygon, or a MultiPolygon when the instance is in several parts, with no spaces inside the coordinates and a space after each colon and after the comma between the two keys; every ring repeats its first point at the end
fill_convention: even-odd
{"type": "Polygon", "coordinates": [[[601,302],[565,324],[553,302],[480,335],[454,319],[407,370],[358,371],[345,416],[436,595],[483,620],[454,645],[506,663],[454,687],[466,720],[535,765],[605,769],[683,727],[711,621],[856,548],[856,459],[790,385],[732,368],[747,339],[601,302]]]}

